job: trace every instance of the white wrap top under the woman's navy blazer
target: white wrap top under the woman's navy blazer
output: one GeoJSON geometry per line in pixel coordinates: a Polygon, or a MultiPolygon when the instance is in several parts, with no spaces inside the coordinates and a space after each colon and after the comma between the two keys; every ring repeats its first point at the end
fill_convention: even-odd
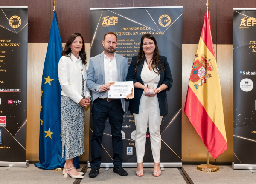
{"type": "MultiPolygon", "coordinates": [[[[160,81],[160,75],[158,75],[158,73],[155,73],[153,70],[150,71],[146,60],[144,61],[140,77],[145,86],[147,86],[148,83],[154,84],[154,89],[157,88],[158,82],[160,81]]],[[[143,91],[142,95],[145,95],[145,91],[143,91]]]]}

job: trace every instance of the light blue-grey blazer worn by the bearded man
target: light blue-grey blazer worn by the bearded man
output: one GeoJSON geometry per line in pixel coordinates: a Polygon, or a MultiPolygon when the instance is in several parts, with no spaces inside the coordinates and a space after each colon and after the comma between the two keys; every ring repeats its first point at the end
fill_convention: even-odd
{"type": "MultiPolygon", "coordinates": [[[[128,59],[116,54],[116,66],[118,71],[118,81],[126,81],[128,72],[128,59]]],[[[104,55],[103,52],[95,57],[90,58],[87,70],[87,87],[92,91],[93,101],[107,92],[99,92],[99,88],[105,82],[104,73],[104,55]]],[[[122,108],[125,112],[125,100],[121,99],[122,108]]]]}

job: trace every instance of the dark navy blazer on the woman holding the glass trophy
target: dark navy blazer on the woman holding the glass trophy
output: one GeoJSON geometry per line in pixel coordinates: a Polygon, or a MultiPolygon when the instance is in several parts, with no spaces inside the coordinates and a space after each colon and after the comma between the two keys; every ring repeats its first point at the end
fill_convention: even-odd
{"type": "MultiPolygon", "coordinates": [[[[132,61],[128,70],[128,74],[126,77],[126,81],[133,81],[135,82],[140,82],[141,84],[144,85],[140,74],[143,68],[143,64],[145,59],[142,59],[141,63],[138,63],[138,68],[137,71],[134,75],[134,69],[135,69],[135,64],[134,62],[137,60],[138,56],[134,56],[132,57],[132,61]]],[[[172,74],[171,74],[171,69],[170,66],[167,62],[167,58],[165,56],[160,56],[161,57],[161,61],[163,62],[163,65],[165,67],[165,70],[163,72],[160,73],[160,80],[159,83],[157,85],[157,88],[162,85],[165,84],[168,86],[168,89],[171,88],[172,86],[172,74]]],[[[160,65],[158,65],[158,69],[160,70],[160,65]]],[[[134,88],[134,98],[130,99],[130,103],[129,103],[129,109],[131,111],[131,113],[135,113],[138,114],[139,113],[139,106],[140,106],[140,98],[142,96],[143,93],[143,89],[140,88],[134,88]]],[[[168,105],[167,105],[167,99],[166,99],[166,90],[163,90],[159,93],[157,93],[157,98],[158,98],[158,102],[159,102],[159,109],[160,109],[160,116],[163,116],[165,114],[168,113],[168,105]]]]}

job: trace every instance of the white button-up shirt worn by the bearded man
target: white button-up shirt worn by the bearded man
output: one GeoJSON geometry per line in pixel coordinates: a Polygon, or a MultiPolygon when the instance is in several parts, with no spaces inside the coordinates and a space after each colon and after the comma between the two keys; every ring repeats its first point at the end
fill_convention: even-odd
{"type": "MultiPolygon", "coordinates": [[[[105,85],[108,85],[108,81],[118,81],[118,73],[117,73],[117,66],[116,66],[116,53],[114,54],[113,58],[110,59],[108,56],[104,55],[104,73],[105,73],[105,85]]],[[[100,92],[100,89],[99,89],[100,92]]],[[[102,95],[99,98],[107,98],[108,92],[102,95]]]]}

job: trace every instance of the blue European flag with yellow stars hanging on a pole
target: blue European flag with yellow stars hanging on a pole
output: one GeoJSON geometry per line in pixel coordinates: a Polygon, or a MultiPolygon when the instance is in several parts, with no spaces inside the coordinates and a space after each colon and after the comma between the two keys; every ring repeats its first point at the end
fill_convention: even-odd
{"type": "MultiPolygon", "coordinates": [[[[52,170],[64,167],[61,135],[61,85],[58,80],[58,62],[61,58],[62,44],[58,30],[57,13],[54,11],[52,26],[44,61],[40,106],[39,160],[35,164],[41,169],[52,170]]],[[[79,168],[78,157],[73,159],[79,168]]]]}

